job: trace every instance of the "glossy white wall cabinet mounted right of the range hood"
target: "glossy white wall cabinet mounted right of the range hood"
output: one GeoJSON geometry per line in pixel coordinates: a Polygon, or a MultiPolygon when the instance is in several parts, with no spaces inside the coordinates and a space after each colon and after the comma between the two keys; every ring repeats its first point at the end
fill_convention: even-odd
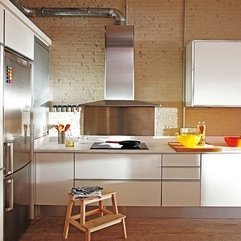
{"type": "Polygon", "coordinates": [[[186,106],[241,106],[241,41],[194,40],[186,46],[186,106]]]}

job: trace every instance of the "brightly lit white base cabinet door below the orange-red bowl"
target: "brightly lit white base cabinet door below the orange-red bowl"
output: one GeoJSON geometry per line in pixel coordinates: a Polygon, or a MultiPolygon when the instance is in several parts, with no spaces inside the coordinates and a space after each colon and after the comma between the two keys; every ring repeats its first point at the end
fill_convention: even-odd
{"type": "Polygon", "coordinates": [[[203,154],[202,206],[241,206],[241,154],[203,154]]]}

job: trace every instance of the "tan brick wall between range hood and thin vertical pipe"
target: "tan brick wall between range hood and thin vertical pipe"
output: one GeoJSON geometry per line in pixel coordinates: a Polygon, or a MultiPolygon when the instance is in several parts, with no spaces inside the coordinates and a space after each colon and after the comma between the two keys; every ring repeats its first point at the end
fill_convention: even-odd
{"type": "Polygon", "coordinates": [[[182,101],[182,0],[130,1],[135,26],[136,98],[182,101]]]}

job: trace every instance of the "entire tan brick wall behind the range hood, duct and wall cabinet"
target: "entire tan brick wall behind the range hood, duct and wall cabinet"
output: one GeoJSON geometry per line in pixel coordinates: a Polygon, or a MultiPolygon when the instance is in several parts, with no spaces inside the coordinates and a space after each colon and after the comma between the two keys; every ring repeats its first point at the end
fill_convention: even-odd
{"type": "MultiPolygon", "coordinates": [[[[76,6],[68,1],[22,3],[28,7],[76,6]]],[[[189,41],[240,39],[237,1],[85,1],[78,6],[120,9],[126,13],[128,24],[135,26],[135,99],[161,104],[159,135],[174,135],[183,125],[183,119],[186,126],[205,120],[210,136],[238,135],[239,108],[187,108],[184,113],[182,87],[183,50],[189,41]]],[[[113,19],[39,17],[32,20],[53,41],[50,49],[53,102],[82,104],[102,100],[104,27],[113,24],[113,19]]]]}

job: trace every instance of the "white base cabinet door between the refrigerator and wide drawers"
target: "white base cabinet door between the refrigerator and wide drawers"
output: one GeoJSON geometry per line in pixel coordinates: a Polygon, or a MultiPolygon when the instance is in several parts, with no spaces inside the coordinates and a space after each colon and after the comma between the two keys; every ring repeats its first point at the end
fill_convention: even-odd
{"type": "Polygon", "coordinates": [[[74,186],[73,153],[36,153],[35,205],[66,205],[74,186]]]}

